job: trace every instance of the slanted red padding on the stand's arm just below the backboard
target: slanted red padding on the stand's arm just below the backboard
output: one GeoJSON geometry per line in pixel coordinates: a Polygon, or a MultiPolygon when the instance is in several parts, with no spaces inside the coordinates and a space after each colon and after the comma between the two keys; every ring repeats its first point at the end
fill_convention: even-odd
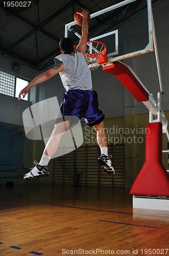
{"type": "Polygon", "coordinates": [[[128,66],[115,61],[112,65],[103,66],[103,70],[115,75],[137,101],[149,100],[148,92],[143,88],[142,84],[135,77],[134,72],[131,72],[128,66]]]}

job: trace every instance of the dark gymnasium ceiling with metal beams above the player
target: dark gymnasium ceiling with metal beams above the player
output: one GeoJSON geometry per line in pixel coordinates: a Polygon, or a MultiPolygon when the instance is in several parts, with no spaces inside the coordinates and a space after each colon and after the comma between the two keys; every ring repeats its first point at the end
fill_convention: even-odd
{"type": "MultiPolygon", "coordinates": [[[[157,1],[160,0],[152,0],[152,3],[157,1]]],[[[123,1],[32,0],[29,8],[5,7],[4,2],[8,1],[0,1],[0,54],[42,71],[51,67],[53,57],[60,53],[59,41],[64,37],[65,24],[73,21],[75,10],[85,7],[90,13],[94,13],[123,1]]],[[[131,3],[129,10],[133,11],[134,8],[135,4],[131,3]]],[[[118,14],[109,18],[107,13],[95,19],[97,26],[107,22],[113,24],[118,20],[118,14]]]]}

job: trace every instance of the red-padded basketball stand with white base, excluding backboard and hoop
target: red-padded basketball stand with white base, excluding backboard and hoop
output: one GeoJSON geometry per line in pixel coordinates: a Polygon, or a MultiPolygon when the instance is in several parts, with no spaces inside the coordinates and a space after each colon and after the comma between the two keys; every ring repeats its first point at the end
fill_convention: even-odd
{"type": "MultiPolygon", "coordinates": [[[[153,20],[153,16],[152,16],[153,20]]],[[[146,134],[145,163],[136,177],[130,194],[133,195],[133,208],[169,210],[169,176],[162,164],[162,133],[169,141],[168,121],[161,109],[162,81],[153,24],[153,39],[160,84],[157,102],[146,89],[133,70],[120,61],[106,63],[103,71],[115,75],[137,101],[142,101],[149,110],[149,123],[146,134]]],[[[103,56],[106,54],[104,53],[103,56]]],[[[102,63],[99,62],[99,65],[102,63]]],[[[168,151],[167,151],[168,152],[168,151]]]]}

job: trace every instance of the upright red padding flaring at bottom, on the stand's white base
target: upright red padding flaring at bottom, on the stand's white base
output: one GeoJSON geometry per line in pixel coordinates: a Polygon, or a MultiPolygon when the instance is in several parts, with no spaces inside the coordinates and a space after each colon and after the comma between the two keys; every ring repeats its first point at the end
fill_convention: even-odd
{"type": "Polygon", "coordinates": [[[162,164],[162,124],[149,123],[146,130],[146,161],[130,194],[168,197],[169,176],[162,164]]]}

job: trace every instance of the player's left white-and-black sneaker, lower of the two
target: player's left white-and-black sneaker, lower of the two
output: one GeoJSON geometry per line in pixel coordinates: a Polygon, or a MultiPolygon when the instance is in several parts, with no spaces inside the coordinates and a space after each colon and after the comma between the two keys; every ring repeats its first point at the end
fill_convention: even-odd
{"type": "Polygon", "coordinates": [[[37,161],[34,161],[36,166],[31,169],[31,172],[24,175],[23,179],[36,179],[38,177],[46,177],[49,175],[47,166],[42,166],[37,163],[37,161]]]}

